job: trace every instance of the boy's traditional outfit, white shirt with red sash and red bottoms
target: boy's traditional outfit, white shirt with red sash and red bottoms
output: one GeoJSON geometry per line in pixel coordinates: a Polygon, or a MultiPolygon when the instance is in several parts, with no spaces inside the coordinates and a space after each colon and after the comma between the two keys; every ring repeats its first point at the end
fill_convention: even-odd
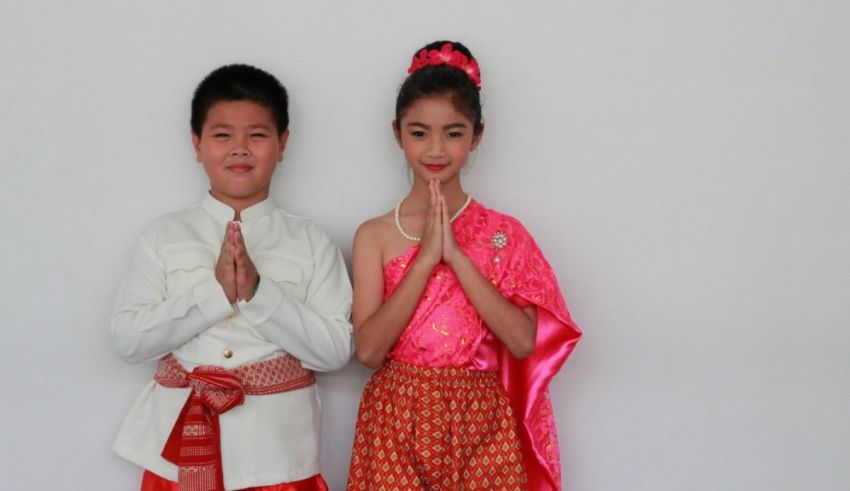
{"type": "Polygon", "coordinates": [[[116,350],[160,360],[113,446],[146,469],[144,491],[324,488],[313,372],[351,357],[345,263],[315,223],[266,199],[240,213],[261,279],[231,304],[215,267],[234,215],[207,194],[160,217],[118,292],[116,350]]]}

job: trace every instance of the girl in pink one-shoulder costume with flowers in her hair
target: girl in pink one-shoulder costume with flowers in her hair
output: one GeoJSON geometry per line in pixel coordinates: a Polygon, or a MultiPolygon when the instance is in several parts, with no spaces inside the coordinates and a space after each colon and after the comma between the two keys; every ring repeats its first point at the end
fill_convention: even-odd
{"type": "Polygon", "coordinates": [[[528,232],[461,186],[484,132],[472,54],[434,42],[408,73],[393,131],[413,186],[354,238],[356,352],[380,369],[348,489],[560,489],[547,386],[581,332],[528,232]]]}

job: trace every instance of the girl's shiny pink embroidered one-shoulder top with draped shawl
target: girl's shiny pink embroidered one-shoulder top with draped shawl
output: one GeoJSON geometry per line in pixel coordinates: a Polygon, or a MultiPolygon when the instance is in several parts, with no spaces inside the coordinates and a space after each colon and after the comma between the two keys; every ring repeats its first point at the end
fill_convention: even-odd
{"type": "MultiPolygon", "coordinates": [[[[514,359],[484,325],[454,272],[438,264],[388,357],[419,366],[494,370],[517,415],[530,490],[561,488],[548,385],[575,347],[573,322],[551,266],[522,224],[473,200],[452,223],[455,241],[499,292],[519,307],[537,308],[537,343],[525,360],[514,359]]],[[[415,245],[384,268],[386,300],[419,252],[415,245]]]]}

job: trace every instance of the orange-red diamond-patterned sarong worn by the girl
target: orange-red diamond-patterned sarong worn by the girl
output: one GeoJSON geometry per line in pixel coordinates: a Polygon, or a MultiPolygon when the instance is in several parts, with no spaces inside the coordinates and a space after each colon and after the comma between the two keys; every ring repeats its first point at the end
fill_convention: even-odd
{"type": "Polygon", "coordinates": [[[348,490],[527,488],[496,372],[388,361],[363,391],[348,490]]]}

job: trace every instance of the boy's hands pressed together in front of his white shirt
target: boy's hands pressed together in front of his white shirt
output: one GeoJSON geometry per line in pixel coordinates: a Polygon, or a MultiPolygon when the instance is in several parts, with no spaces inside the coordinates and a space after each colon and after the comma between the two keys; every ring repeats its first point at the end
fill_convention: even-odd
{"type": "Polygon", "coordinates": [[[254,298],[260,275],[248,255],[242,229],[237,222],[227,224],[221,253],[215,265],[215,278],[230,303],[237,300],[250,301],[254,298]]]}

